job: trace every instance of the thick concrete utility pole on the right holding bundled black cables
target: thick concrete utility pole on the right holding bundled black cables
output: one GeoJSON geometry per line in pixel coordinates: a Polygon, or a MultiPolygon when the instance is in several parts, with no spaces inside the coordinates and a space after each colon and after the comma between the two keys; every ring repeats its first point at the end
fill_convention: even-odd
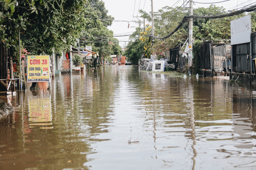
{"type": "MultiPolygon", "coordinates": [[[[190,0],[190,16],[193,15],[193,0],[190,0]]],[[[188,71],[189,75],[191,75],[190,66],[192,66],[192,57],[193,57],[193,19],[189,19],[189,26],[188,26],[188,71]]]]}

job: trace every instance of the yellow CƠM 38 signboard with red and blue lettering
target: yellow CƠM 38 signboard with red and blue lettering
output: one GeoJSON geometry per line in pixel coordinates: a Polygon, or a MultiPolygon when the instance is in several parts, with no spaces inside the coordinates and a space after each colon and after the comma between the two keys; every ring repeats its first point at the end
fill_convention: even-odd
{"type": "Polygon", "coordinates": [[[50,81],[50,56],[28,56],[28,82],[50,81]]]}

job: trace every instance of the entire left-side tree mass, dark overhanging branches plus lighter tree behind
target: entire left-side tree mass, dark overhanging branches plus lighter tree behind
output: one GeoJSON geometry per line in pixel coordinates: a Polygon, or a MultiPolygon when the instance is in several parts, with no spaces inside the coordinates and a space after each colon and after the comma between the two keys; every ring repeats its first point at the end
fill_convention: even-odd
{"type": "Polygon", "coordinates": [[[21,46],[32,55],[69,51],[77,38],[100,57],[121,54],[107,28],[114,18],[102,0],[0,0],[0,11],[0,39],[14,60],[19,58],[19,33],[21,46]]]}

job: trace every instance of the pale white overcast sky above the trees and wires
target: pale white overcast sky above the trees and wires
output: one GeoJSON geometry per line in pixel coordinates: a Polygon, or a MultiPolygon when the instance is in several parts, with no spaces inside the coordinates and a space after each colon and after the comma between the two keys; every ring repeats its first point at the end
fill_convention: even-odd
{"type": "MultiPolygon", "coordinates": [[[[140,17],[140,13],[138,12],[139,9],[144,9],[147,13],[151,11],[151,0],[102,0],[105,2],[105,7],[109,11],[108,14],[113,16],[116,21],[113,21],[109,30],[114,32],[114,35],[130,35],[135,31],[136,27],[139,27],[138,23],[132,21],[139,21],[141,20],[141,27],[143,27],[143,19],[140,17]],[[128,22],[130,26],[128,28],[128,22]]],[[[189,7],[189,0],[184,0],[187,7],[189,7]]],[[[209,7],[211,4],[201,4],[201,3],[214,3],[216,6],[222,6],[228,10],[232,9],[241,9],[241,7],[247,5],[256,5],[255,0],[194,0],[194,8],[198,7],[209,7]],[[225,2],[223,2],[225,1],[225,2]],[[201,3],[196,3],[201,2],[201,3]]],[[[183,7],[183,0],[153,0],[153,8],[154,12],[158,11],[162,7],[169,6],[169,7],[183,7]]],[[[183,9],[182,9],[183,10],[183,9]]],[[[148,22],[146,21],[146,24],[148,22]]],[[[150,23],[151,25],[151,23],[150,23]]],[[[129,36],[125,37],[116,37],[120,41],[121,47],[125,47],[128,42],[122,41],[129,41],[129,36]]]]}

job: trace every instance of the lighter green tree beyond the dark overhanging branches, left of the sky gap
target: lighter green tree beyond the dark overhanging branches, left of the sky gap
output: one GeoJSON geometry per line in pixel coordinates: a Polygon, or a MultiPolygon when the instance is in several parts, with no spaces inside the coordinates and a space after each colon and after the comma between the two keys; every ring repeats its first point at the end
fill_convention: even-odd
{"type": "Polygon", "coordinates": [[[88,19],[92,22],[86,25],[85,32],[80,37],[81,45],[91,45],[92,50],[98,52],[100,58],[121,54],[122,49],[119,46],[119,41],[113,37],[113,31],[107,28],[107,26],[111,26],[114,18],[107,15],[108,10],[102,0],[89,0],[89,2],[90,14],[88,14],[88,19]]]}

